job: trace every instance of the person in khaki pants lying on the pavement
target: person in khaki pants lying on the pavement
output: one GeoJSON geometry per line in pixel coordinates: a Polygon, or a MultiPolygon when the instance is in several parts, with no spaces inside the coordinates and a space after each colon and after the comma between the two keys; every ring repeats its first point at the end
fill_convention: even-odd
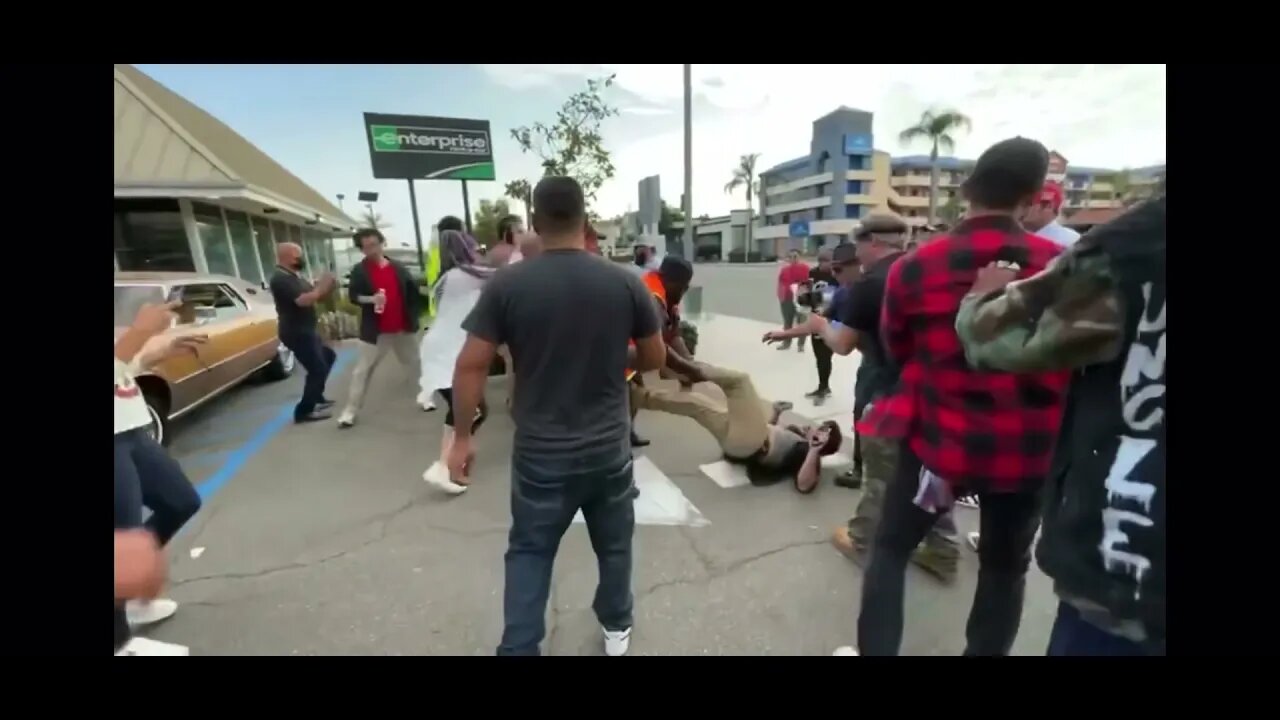
{"type": "Polygon", "coordinates": [[[820,477],[820,457],[840,450],[840,427],[833,420],[818,427],[780,425],[781,413],[790,406],[774,405],[767,416],[750,375],[707,363],[694,365],[701,379],[724,391],[724,405],[682,383],[680,389],[631,386],[632,406],[690,418],[712,433],[727,460],[746,466],[751,484],[773,484],[791,477],[797,491],[813,492],[820,477]]]}

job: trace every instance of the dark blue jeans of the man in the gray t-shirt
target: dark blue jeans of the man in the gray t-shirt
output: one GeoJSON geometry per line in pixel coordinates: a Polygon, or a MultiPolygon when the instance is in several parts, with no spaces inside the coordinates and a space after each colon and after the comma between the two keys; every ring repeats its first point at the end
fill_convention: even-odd
{"type": "Polygon", "coordinates": [[[506,629],[498,655],[539,655],[538,643],[547,634],[544,616],[556,551],[579,510],[599,564],[600,583],[591,609],[608,630],[631,626],[631,538],[637,495],[628,454],[603,465],[591,457],[512,457],[506,629]]]}

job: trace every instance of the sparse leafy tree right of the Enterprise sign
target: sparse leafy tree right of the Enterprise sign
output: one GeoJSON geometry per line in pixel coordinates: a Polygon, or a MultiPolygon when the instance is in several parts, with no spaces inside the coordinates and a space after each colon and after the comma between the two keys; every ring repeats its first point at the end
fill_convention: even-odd
{"type": "MultiPolygon", "coordinates": [[[[544,176],[576,179],[588,202],[595,200],[604,181],[613,177],[613,161],[604,149],[600,124],[618,114],[617,108],[604,100],[604,91],[613,85],[614,77],[588,79],[586,90],[571,95],[550,124],[538,122],[511,131],[522,152],[541,159],[544,176]]],[[[508,195],[515,190],[512,184],[507,186],[508,195]]]]}

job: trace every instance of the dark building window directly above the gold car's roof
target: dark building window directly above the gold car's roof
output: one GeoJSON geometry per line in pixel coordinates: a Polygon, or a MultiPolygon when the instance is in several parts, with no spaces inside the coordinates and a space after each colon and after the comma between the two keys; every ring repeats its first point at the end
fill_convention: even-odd
{"type": "Polygon", "coordinates": [[[177,200],[116,200],[114,209],[120,270],[195,272],[177,200]]]}

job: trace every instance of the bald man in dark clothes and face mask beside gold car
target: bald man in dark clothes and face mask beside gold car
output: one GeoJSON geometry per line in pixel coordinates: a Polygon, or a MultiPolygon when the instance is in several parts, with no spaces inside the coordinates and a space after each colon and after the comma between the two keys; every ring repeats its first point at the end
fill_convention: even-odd
{"type": "Polygon", "coordinates": [[[292,242],[275,246],[275,273],[271,274],[271,299],[279,318],[280,342],[288,347],[298,364],[307,370],[302,400],[293,409],[293,421],[314,423],[328,420],[333,401],[325,400],[324,384],[338,354],[320,342],[316,333],[316,302],[328,297],[337,281],[332,273],[320,275],[312,287],[300,273],[306,266],[302,247],[292,242]]]}

